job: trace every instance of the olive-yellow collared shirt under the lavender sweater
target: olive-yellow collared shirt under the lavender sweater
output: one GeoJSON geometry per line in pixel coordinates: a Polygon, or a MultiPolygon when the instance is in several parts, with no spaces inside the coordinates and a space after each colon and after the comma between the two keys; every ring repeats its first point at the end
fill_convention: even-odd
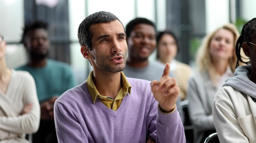
{"type": "Polygon", "coordinates": [[[128,80],[126,79],[125,75],[123,72],[121,72],[121,79],[122,79],[122,87],[119,90],[119,92],[117,93],[117,96],[115,99],[108,97],[108,96],[103,96],[99,94],[99,91],[97,90],[97,88],[94,85],[94,82],[92,80],[92,76],[93,76],[93,71],[90,72],[87,80],[86,80],[86,85],[88,87],[88,90],[92,96],[92,102],[95,103],[95,100],[97,100],[99,98],[99,100],[106,105],[108,108],[117,111],[117,109],[119,108],[119,106],[121,105],[122,99],[127,95],[127,93],[130,94],[131,88],[132,86],[130,85],[130,83],[128,82],[128,80]]]}

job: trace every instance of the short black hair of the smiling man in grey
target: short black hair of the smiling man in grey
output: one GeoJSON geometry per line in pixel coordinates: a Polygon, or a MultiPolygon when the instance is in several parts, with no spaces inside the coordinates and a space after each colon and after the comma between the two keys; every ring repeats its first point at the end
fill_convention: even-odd
{"type": "Polygon", "coordinates": [[[149,24],[153,26],[155,28],[155,32],[157,32],[157,28],[152,21],[146,18],[135,18],[126,25],[126,37],[130,37],[130,33],[132,32],[134,26],[137,24],[149,24]]]}

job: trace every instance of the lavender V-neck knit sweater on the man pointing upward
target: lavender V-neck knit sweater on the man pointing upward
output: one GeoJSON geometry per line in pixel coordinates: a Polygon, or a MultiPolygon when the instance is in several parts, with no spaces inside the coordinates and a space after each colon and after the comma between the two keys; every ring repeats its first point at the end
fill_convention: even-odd
{"type": "Polygon", "coordinates": [[[179,113],[162,114],[150,82],[127,78],[132,86],[117,111],[92,102],[86,82],[63,93],[54,104],[59,143],[185,143],[179,113]]]}

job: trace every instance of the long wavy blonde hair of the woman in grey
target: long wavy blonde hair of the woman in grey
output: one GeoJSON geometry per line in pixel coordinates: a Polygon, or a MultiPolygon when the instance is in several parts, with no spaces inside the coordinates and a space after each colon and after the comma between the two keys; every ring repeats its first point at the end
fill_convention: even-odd
{"type": "Polygon", "coordinates": [[[207,72],[213,83],[216,80],[217,71],[216,71],[215,67],[213,66],[213,62],[211,60],[209,46],[210,46],[210,42],[212,40],[213,35],[215,35],[216,32],[218,32],[220,29],[229,30],[234,36],[233,55],[229,59],[229,66],[231,68],[231,71],[234,73],[234,71],[236,69],[236,61],[237,61],[235,47],[236,47],[236,41],[237,41],[238,37],[240,36],[240,34],[234,24],[226,24],[226,25],[216,29],[215,31],[209,33],[208,35],[206,35],[202,41],[202,44],[198,48],[198,51],[196,53],[196,58],[195,58],[195,63],[196,63],[198,70],[201,73],[207,72]]]}

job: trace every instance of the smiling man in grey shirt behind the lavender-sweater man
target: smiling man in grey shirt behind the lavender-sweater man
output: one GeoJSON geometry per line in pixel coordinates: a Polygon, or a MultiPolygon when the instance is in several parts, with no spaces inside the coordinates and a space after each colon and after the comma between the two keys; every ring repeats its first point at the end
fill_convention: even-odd
{"type": "MultiPolygon", "coordinates": [[[[156,49],[156,35],[155,24],[146,18],[135,18],[126,25],[128,58],[123,72],[127,77],[149,81],[160,80],[165,65],[149,60],[149,56],[156,49]]],[[[172,72],[169,76],[174,77],[172,72]]],[[[183,123],[185,117],[180,106],[180,97],[176,105],[183,123]]]]}

